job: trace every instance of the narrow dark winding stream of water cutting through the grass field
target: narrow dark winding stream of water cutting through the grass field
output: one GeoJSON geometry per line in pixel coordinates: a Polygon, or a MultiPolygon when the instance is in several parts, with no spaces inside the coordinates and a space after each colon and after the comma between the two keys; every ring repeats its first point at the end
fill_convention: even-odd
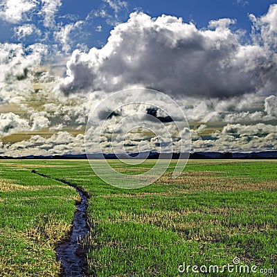
{"type": "Polygon", "coordinates": [[[69,181],[56,179],[36,172],[35,170],[32,170],[32,172],[39,176],[55,179],[66,185],[73,186],[80,195],[81,201],[76,204],[77,209],[73,217],[70,240],[66,240],[55,250],[57,253],[57,260],[62,263],[63,272],[61,277],[84,277],[88,265],[86,250],[82,246],[81,239],[89,232],[89,226],[87,225],[88,196],[84,191],[80,190],[80,188],[76,188],[76,186],[69,181]]]}

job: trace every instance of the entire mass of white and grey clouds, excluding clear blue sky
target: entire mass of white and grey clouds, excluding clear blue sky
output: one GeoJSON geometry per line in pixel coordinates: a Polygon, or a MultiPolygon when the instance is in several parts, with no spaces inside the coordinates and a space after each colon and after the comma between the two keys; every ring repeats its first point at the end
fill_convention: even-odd
{"type": "MultiPolygon", "coordinates": [[[[103,1],[105,9],[89,12],[84,19],[68,15],[59,21],[61,3],[5,0],[0,4],[0,18],[21,40],[0,43],[0,154],[83,154],[91,111],[111,92],[133,87],[157,89],[178,102],[190,122],[193,151],[277,150],[277,5],[260,17],[249,15],[252,33],[244,37],[242,30],[235,30],[235,19],[213,20],[199,29],[170,15],[151,18],[133,12],[127,22],[119,23],[118,11],[127,8],[119,0],[103,1]],[[79,37],[87,35],[88,22],[96,17],[116,27],[107,44],[89,50],[79,37]],[[30,38],[34,42],[24,46],[30,38]],[[24,134],[24,140],[8,141],[24,132],[30,134],[24,134]]],[[[152,97],[138,93],[132,100],[148,102],[152,97]]],[[[114,104],[108,103],[96,124],[114,104]]],[[[163,105],[170,116],[175,115],[174,107],[161,100],[163,105]]],[[[136,109],[172,124],[161,109],[153,111],[149,105],[136,109]]],[[[118,114],[131,116],[134,111],[129,107],[118,114]]],[[[107,153],[110,129],[118,118],[111,116],[111,128],[102,138],[107,153]]],[[[126,127],[140,122],[141,118],[132,118],[126,127]]],[[[147,146],[158,150],[159,136],[123,133],[116,136],[118,151],[123,145],[129,152],[147,146]]],[[[167,138],[160,139],[168,143],[167,138]]]]}

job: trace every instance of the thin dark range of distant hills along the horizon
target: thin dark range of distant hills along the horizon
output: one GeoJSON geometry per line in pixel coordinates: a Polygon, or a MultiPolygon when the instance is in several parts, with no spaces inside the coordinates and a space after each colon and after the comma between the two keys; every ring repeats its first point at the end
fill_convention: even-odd
{"type": "MultiPolygon", "coordinates": [[[[0,159],[159,159],[157,152],[133,153],[133,154],[64,154],[53,156],[26,156],[8,157],[0,156],[0,159]]],[[[180,153],[163,154],[163,159],[179,159],[180,153]]],[[[231,153],[231,152],[194,152],[190,153],[189,159],[277,159],[277,151],[251,152],[251,153],[231,153]]]]}

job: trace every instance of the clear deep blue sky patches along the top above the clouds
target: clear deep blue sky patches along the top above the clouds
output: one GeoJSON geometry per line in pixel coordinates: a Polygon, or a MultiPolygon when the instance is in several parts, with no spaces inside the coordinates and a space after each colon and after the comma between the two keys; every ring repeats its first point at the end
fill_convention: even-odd
{"type": "MultiPolygon", "coordinates": [[[[102,0],[66,0],[62,1],[62,6],[56,12],[57,24],[69,24],[75,20],[85,20],[89,14],[93,11],[105,10],[107,14],[115,19],[117,22],[127,21],[130,12],[134,10],[140,10],[151,17],[159,17],[160,15],[173,15],[176,17],[182,17],[184,22],[193,21],[198,28],[207,28],[208,22],[213,19],[231,18],[236,20],[236,24],[232,26],[233,29],[247,30],[247,34],[251,32],[251,21],[249,20],[249,14],[256,16],[264,15],[269,6],[276,1],[272,0],[259,0],[259,1],[244,1],[244,0],[214,0],[214,1],[159,1],[159,0],[139,0],[139,1],[118,1],[125,2],[124,6],[118,6],[118,10],[115,10],[109,5],[108,2],[102,0]],[[71,19],[64,18],[64,16],[71,15],[71,19]]],[[[115,1],[116,3],[116,1],[115,1]]],[[[38,26],[42,32],[47,32],[42,24],[42,18],[37,15],[32,17],[33,23],[38,26]]],[[[24,42],[24,44],[33,44],[39,41],[35,37],[28,37],[24,40],[18,39],[13,32],[15,26],[19,26],[21,22],[17,24],[11,24],[10,22],[0,19],[0,42],[24,42]]],[[[107,42],[109,32],[114,28],[114,22],[107,23],[107,17],[100,17],[91,15],[87,20],[84,31],[86,37],[78,37],[79,41],[84,42],[87,46],[100,47],[107,42]],[[96,31],[97,27],[101,26],[101,32],[96,31]]],[[[248,37],[247,37],[248,38],[248,37]]],[[[51,36],[48,37],[49,44],[53,43],[51,36]]]]}

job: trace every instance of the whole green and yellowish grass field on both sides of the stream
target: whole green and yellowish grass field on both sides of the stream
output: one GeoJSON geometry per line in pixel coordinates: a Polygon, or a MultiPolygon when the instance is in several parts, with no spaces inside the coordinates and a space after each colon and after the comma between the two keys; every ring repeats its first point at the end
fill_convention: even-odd
{"type": "MultiPolygon", "coordinates": [[[[134,174],[154,161],[109,163],[134,174]]],[[[277,161],[189,161],[171,179],[174,166],[150,186],[123,190],[104,184],[87,161],[0,161],[0,276],[59,273],[54,248],[78,194],[33,169],[89,193],[91,276],[277,276],[277,161]],[[257,273],[178,271],[184,263],[222,267],[235,257],[257,273]]]]}

